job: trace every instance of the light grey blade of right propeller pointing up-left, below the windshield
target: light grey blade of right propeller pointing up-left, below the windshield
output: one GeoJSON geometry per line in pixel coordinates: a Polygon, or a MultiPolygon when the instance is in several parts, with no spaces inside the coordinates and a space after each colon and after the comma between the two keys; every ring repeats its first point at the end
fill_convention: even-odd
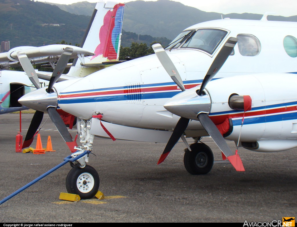
{"type": "Polygon", "coordinates": [[[153,48],[155,54],[157,55],[157,58],[159,59],[171,79],[177,84],[181,91],[185,91],[186,89],[184,87],[183,81],[181,80],[181,76],[179,75],[176,67],[174,66],[173,62],[171,61],[161,44],[156,43],[151,47],[153,48]]]}

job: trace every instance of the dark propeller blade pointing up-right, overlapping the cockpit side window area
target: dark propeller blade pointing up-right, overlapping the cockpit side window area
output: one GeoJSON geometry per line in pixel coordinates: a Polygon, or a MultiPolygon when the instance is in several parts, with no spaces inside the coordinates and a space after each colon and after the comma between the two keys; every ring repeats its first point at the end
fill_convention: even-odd
{"type": "Polygon", "coordinates": [[[222,49],[217,54],[216,58],[212,62],[211,66],[206,73],[206,76],[203,79],[200,90],[198,91],[198,95],[201,96],[206,84],[211,81],[211,79],[217,74],[220,68],[223,66],[229,55],[231,54],[234,46],[236,45],[238,39],[234,37],[230,37],[222,47],[222,49]]]}

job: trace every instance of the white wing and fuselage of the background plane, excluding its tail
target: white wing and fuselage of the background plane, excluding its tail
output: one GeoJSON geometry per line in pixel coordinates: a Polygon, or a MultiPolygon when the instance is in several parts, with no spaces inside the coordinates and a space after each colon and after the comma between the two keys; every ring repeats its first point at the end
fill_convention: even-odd
{"type": "MultiPolygon", "coordinates": [[[[28,64],[35,64],[40,62],[48,62],[50,59],[56,61],[59,59],[61,53],[66,47],[70,47],[69,45],[48,45],[43,47],[16,47],[11,49],[7,53],[0,54],[0,65],[2,68],[9,68],[12,66],[20,66],[20,60],[18,58],[18,53],[25,53],[28,59],[28,64]]],[[[88,50],[84,50],[80,47],[73,47],[75,51],[73,51],[70,58],[80,57],[84,58],[84,56],[91,56],[91,53],[88,50]]],[[[37,78],[37,74],[34,70],[32,72],[37,78]]],[[[31,74],[30,74],[31,75],[31,74]]],[[[32,76],[30,77],[33,78],[32,76]]],[[[35,79],[36,79],[35,78],[35,79]]],[[[45,77],[43,77],[45,78],[45,77]]],[[[62,80],[65,77],[62,77],[62,80]]],[[[72,78],[72,77],[66,77],[72,78]]],[[[38,79],[38,78],[37,78],[38,79]]],[[[46,79],[46,78],[45,78],[46,79]]],[[[60,80],[61,81],[61,80],[60,80]]],[[[18,99],[26,93],[29,93],[35,90],[34,80],[28,80],[25,72],[18,72],[12,70],[1,70],[0,71],[0,113],[9,113],[20,111],[24,109],[28,109],[23,107],[20,103],[18,103],[18,99]]],[[[45,87],[48,85],[48,80],[37,81],[35,85],[40,87],[45,87]]]]}

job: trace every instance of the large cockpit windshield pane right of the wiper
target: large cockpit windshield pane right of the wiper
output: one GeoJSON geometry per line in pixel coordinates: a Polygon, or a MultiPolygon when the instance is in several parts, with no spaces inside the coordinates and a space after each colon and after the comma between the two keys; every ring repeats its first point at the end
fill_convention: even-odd
{"type": "Polygon", "coordinates": [[[213,54],[226,34],[227,31],[219,29],[198,29],[181,48],[195,48],[213,54]]]}

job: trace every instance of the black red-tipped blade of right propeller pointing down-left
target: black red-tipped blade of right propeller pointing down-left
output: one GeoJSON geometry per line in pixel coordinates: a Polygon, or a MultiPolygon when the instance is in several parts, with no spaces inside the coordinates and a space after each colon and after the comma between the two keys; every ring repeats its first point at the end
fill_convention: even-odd
{"type": "Polygon", "coordinates": [[[172,148],[174,147],[174,145],[176,145],[176,143],[178,142],[179,138],[181,138],[182,134],[184,133],[184,131],[186,130],[186,128],[189,124],[189,121],[190,121],[190,119],[182,118],[182,117],[178,120],[178,122],[173,130],[173,133],[170,136],[161,157],[159,158],[159,161],[157,163],[158,165],[165,160],[165,158],[167,157],[167,155],[169,155],[169,153],[172,150],[172,148]]]}

